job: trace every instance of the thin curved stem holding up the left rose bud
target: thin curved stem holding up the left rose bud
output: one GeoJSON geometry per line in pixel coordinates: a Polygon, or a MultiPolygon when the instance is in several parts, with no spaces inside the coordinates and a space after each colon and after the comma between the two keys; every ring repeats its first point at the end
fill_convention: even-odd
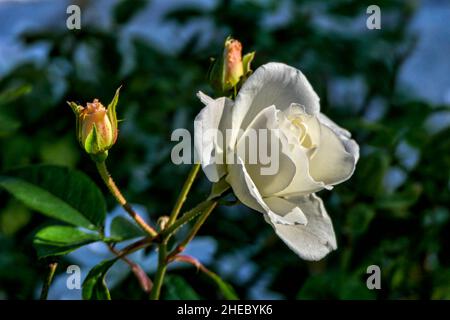
{"type": "Polygon", "coordinates": [[[106,163],[104,161],[101,161],[95,162],[95,164],[97,165],[97,170],[102,177],[103,182],[108,187],[108,190],[117,200],[117,202],[125,209],[126,212],[128,212],[128,214],[134,219],[134,221],[136,221],[136,223],[142,228],[142,230],[144,230],[150,236],[156,237],[158,235],[156,230],[149,226],[144,221],[144,219],[142,219],[142,217],[136,211],[134,211],[134,209],[122,195],[122,192],[120,192],[119,188],[109,174],[108,169],[106,168],[106,163]]]}

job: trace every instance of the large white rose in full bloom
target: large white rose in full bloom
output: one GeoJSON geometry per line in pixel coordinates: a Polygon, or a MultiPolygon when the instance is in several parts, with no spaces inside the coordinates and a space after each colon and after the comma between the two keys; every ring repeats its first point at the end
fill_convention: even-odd
{"type": "Polygon", "coordinates": [[[285,64],[268,63],[250,76],[235,101],[198,96],[206,107],[195,119],[195,150],[208,179],[225,177],[236,197],[263,213],[303,259],[319,260],[335,250],[331,219],[315,192],[350,178],[359,146],[347,130],[320,113],[319,97],[306,77],[285,64]],[[263,164],[246,163],[237,152],[252,129],[277,132],[276,174],[262,174],[263,164]],[[205,134],[213,130],[226,142],[220,143],[219,134],[205,134]],[[217,161],[230,154],[234,163],[217,161]]]}

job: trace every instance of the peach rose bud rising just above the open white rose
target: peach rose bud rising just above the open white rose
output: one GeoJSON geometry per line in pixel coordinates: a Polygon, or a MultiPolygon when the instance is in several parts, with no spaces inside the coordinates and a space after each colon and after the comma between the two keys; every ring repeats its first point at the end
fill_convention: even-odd
{"type": "Polygon", "coordinates": [[[246,78],[250,70],[250,63],[255,53],[251,52],[242,57],[242,44],[231,37],[225,40],[222,57],[213,62],[209,80],[218,93],[229,93],[239,82],[246,78]]]}

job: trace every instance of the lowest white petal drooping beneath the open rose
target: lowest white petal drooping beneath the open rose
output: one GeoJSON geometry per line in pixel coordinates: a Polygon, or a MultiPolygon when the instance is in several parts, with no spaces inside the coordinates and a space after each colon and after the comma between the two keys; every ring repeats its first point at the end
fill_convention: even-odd
{"type": "Polygon", "coordinates": [[[305,260],[320,260],[337,249],[333,224],[322,200],[315,194],[286,199],[305,214],[307,225],[283,225],[265,215],[277,235],[287,246],[305,260]]]}

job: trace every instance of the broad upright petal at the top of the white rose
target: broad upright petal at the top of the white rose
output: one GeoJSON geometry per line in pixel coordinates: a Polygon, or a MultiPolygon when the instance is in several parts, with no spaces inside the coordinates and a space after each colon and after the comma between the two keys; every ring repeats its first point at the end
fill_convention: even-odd
{"type": "Polygon", "coordinates": [[[239,90],[232,114],[233,129],[245,130],[270,105],[283,111],[291,103],[303,105],[310,115],[320,111],[319,97],[301,71],[283,63],[265,64],[239,90]]]}

